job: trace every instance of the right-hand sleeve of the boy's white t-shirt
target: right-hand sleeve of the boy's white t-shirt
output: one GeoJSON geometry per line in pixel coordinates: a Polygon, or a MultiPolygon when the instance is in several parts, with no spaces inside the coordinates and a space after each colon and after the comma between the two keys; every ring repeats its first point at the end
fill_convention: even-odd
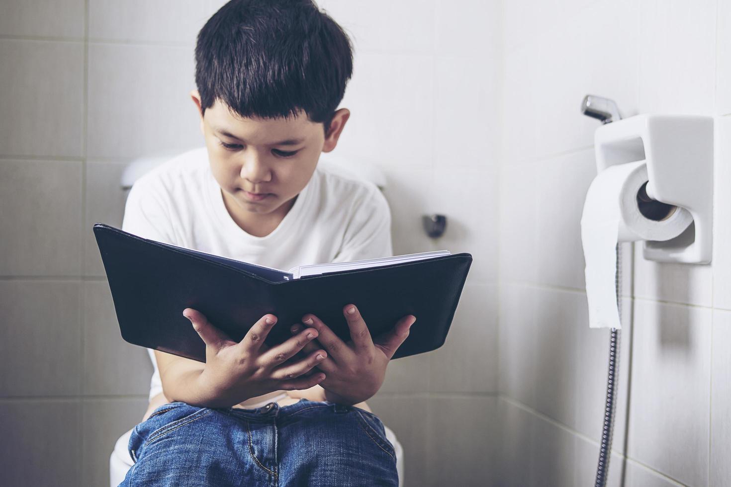
{"type": "Polygon", "coordinates": [[[391,212],[375,186],[355,204],[346,226],[343,246],[333,262],[360,261],[393,256],[391,212]]]}

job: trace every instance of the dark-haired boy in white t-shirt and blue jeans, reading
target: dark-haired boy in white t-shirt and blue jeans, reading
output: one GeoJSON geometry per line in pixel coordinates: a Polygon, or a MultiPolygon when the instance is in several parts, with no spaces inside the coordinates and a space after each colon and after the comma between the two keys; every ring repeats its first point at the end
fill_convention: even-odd
{"type": "MultiPolygon", "coordinates": [[[[392,255],[390,213],[369,183],[317,166],[349,118],[342,29],[311,0],[233,0],[201,29],[192,99],[205,148],[140,178],[123,229],[279,269],[392,255]]],[[[241,342],[181,310],[206,362],[154,351],[151,404],[124,486],[398,485],[393,445],[366,399],[409,334],[407,315],[371,338],[345,304],[352,341],[315,315],[268,348],[265,315],[241,342]]]]}

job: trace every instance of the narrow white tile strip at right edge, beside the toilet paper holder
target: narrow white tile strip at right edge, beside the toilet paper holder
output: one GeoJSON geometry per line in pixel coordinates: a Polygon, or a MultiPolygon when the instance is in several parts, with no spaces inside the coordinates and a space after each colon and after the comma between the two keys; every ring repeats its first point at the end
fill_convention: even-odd
{"type": "Polygon", "coordinates": [[[731,310],[731,117],[716,118],[713,168],[713,307],[731,310]]]}

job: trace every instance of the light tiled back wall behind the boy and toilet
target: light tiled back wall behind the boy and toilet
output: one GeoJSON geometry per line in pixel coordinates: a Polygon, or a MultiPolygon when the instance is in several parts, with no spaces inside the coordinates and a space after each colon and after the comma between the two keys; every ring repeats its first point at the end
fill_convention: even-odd
{"type": "MultiPolygon", "coordinates": [[[[119,336],[91,225],[121,225],[131,158],[202,145],[194,37],[221,3],[0,4],[1,485],[106,485],[145,410],[151,366],[119,336]]],[[[393,362],[371,405],[406,485],[482,485],[499,434],[499,5],[321,5],[355,37],[336,153],[385,170],[395,252],[474,255],[447,344],[393,362]],[[435,212],[448,228],[432,242],[420,217],[435,212]]]]}

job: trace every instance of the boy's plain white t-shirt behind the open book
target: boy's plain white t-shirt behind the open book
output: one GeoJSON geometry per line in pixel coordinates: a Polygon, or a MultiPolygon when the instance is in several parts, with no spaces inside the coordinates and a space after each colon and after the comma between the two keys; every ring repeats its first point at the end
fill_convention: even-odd
{"type": "MultiPolygon", "coordinates": [[[[140,177],[127,196],[122,223],[124,231],[145,239],[284,271],[392,256],[390,226],[388,204],[376,185],[319,161],[279,226],[265,237],[254,237],[226,210],[205,147],[140,177]]],[[[154,353],[148,352],[154,365],[152,398],[162,392],[162,382],[154,353]]]]}

